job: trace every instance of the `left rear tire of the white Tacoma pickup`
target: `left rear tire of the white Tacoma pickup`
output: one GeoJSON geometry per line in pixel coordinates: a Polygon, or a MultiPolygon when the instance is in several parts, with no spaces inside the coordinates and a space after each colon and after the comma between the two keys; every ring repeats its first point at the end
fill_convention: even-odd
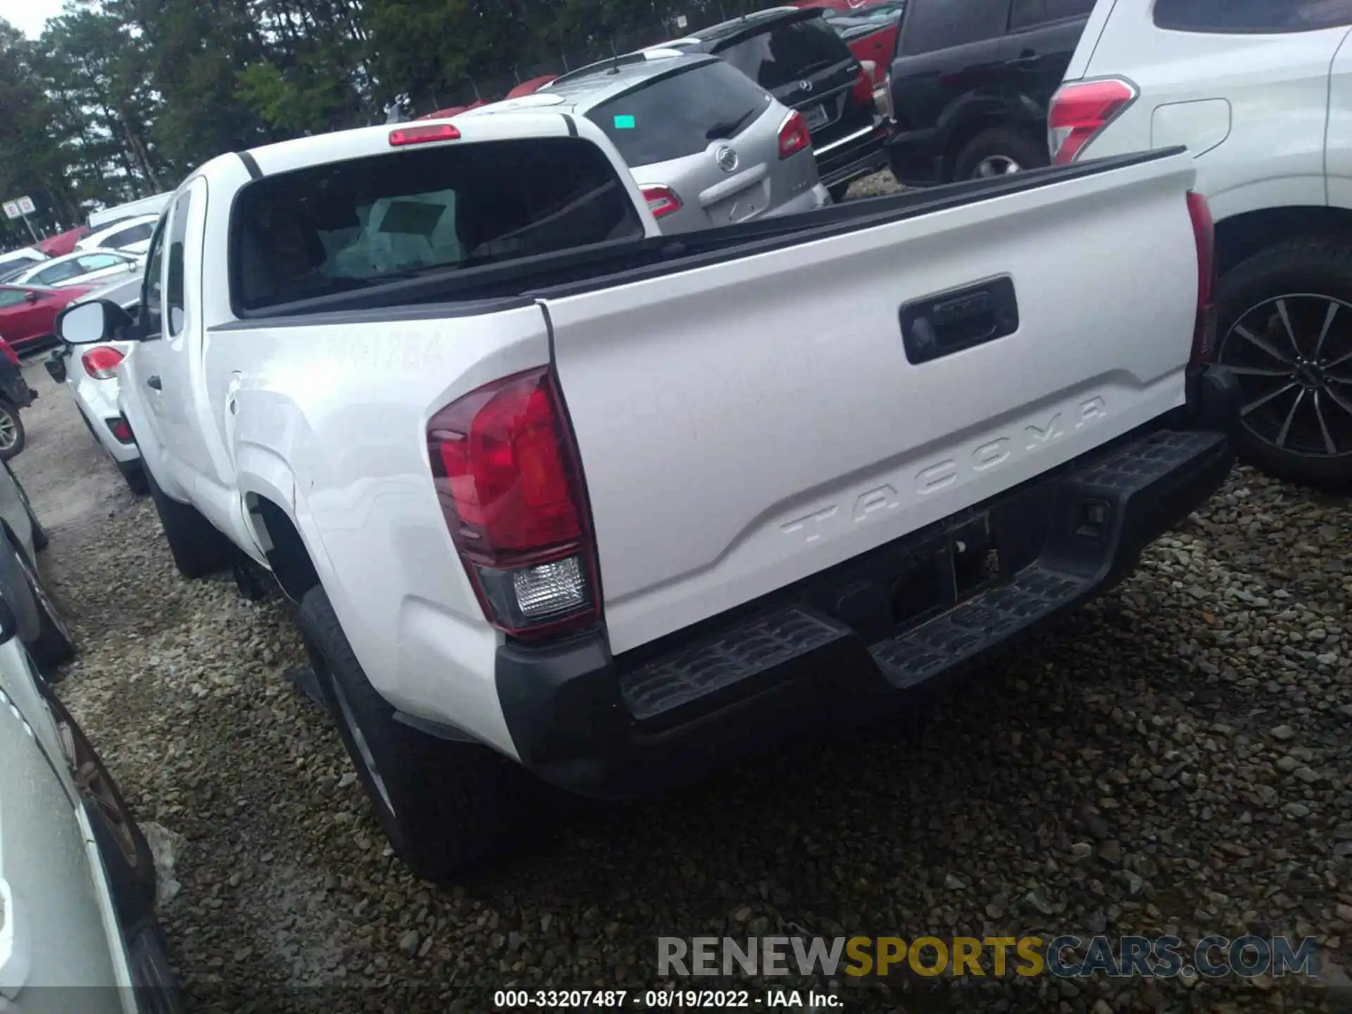
{"type": "Polygon", "coordinates": [[[300,629],[376,819],[416,876],[443,880],[527,837],[535,786],[526,772],[487,746],[437,740],[396,722],[323,588],[301,599],[300,629]]]}

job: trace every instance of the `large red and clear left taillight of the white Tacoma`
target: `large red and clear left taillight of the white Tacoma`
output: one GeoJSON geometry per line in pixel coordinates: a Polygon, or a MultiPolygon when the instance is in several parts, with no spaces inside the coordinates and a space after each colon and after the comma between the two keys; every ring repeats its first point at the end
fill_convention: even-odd
{"type": "Polygon", "coordinates": [[[548,369],[487,384],[427,423],[433,481],[488,621],[518,637],[595,623],[596,553],[548,369]]]}

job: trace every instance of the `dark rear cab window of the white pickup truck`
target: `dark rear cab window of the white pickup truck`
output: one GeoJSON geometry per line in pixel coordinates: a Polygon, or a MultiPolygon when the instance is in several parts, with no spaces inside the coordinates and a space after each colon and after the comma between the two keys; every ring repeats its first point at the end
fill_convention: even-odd
{"type": "Polygon", "coordinates": [[[250,314],[441,270],[644,235],[580,138],[438,145],[264,176],[231,211],[230,292],[250,314]]]}

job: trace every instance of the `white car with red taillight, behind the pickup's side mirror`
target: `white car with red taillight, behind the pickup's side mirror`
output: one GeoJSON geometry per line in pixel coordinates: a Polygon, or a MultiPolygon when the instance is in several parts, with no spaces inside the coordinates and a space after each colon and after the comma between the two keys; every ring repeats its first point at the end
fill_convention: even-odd
{"type": "MultiPolygon", "coordinates": [[[[141,279],[119,279],[103,288],[81,296],[77,303],[107,299],[135,314],[141,303],[141,279]]],[[[118,365],[131,349],[130,342],[72,349],[61,345],[43,361],[47,373],[58,384],[65,384],[74,397],[80,418],[89,427],[99,446],[112,461],[131,491],[146,492],[146,475],[141,466],[141,450],[131,427],[118,407],[118,365]]]]}

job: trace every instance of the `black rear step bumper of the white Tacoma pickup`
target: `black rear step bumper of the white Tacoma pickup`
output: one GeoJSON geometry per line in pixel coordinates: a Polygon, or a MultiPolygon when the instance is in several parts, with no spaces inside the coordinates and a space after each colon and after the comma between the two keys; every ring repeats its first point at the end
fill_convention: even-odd
{"type": "Polygon", "coordinates": [[[603,631],[503,645],[498,694],[522,764],[583,795],[642,795],[876,718],[1102,595],[1230,472],[1233,379],[1188,384],[1191,407],[1161,427],[618,660],[603,631]],[[923,602],[899,604],[917,589],[923,602]]]}

